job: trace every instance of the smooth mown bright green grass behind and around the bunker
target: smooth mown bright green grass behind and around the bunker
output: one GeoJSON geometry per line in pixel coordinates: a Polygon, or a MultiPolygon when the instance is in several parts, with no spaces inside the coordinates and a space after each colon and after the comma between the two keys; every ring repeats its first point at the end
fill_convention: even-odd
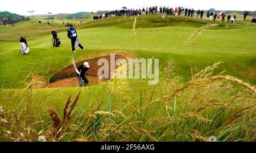
{"type": "MultiPolygon", "coordinates": [[[[30,25],[30,24],[29,24],[30,25]]],[[[138,27],[138,26],[137,26],[138,27]]],[[[170,58],[177,62],[177,72],[187,81],[190,78],[191,67],[196,71],[207,67],[216,61],[223,61],[221,70],[228,69],[226,74],[236,76],[242,80],[255,84],[255,48],[254,38],[251,33],[255,26],[241,27],[238,29],[211,29],[197,36],[196,42],[179,49],[180,45],[200,27],[184,26],[183,23],[170,27],[138,28],[134,49],[139,57],[155,57],[164,65],[170,58]],[[202,47],[204,46],[204,47],[202,47]]],[[[47,30],[49,32],[49,30],[47,30]]],[[[18,31],[17,31],[18,32],[18,31]]],[[[105,51],[131,52],[131,29],[116,26],[88,28],[78,30],[81,43],[88,47],[85,52],[77,52],[76,60],[90,59],[105,51]]],[[[43,32],[44,33],[44,32],[43,32]]],[[[31,53],[20,55],[19,43],[0,42],[1,63],[8,67],[0,67],[3,88],[24,88],[24,78],[31,72],[31,67],[46,80],[51,78],[65,66],[71,64],[70,40],[66,32],[60,32],[61,47],[52,48],[51,35],[38,39],[28,39],[31,53]],[[46,60],[43,68],[39,68],[42,61],[46,60]],[[10,60],[12,61],[10,63],[10,60]],[[26,65],[31,63],[32,65],[26,65]],[[24,65],[24,66],[23,66],[24,65]],[[58,65],[56,67],[56,65],[58,65]],[[11,69],[10,69],[11,67],[11,69]],[[47,71],[49,69],[49,71],[47,71]],[[15,73],[14,73],[15,72],[15,73]],[[19,72],[18,76],[16,73],[19,72]]]]}

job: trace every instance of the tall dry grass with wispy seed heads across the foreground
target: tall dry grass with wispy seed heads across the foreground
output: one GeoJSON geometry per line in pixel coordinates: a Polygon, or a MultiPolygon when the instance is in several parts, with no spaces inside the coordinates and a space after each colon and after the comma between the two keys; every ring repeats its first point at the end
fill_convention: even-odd
{"type": "Polygon", "coordinates": [[[117,79],[109,84],[105,98],[96,98],[101,92],[86,94],[85,89],[73,102],[71,96],[65,103],[58,101],[59,107],[49,107],[51,100],[46,103],[56,90],[44,96],[36,96],[42,93],[33,94],[32,89],[10,93],[10,102],[20,101],[18,109],[0,107],[0,139],[209,141],[215,136],[218,141],[255,141],[255,86],[224,73],[213,75],[220,64],[192,71],[191,81],[182,83],[170,60],[165,77],[152,89],[132,88],[138,82],[127,80],[129,88],[123,88],[123,80],[117,79]],[[118,90],[111,90],[111,85],[118,90]]]}

